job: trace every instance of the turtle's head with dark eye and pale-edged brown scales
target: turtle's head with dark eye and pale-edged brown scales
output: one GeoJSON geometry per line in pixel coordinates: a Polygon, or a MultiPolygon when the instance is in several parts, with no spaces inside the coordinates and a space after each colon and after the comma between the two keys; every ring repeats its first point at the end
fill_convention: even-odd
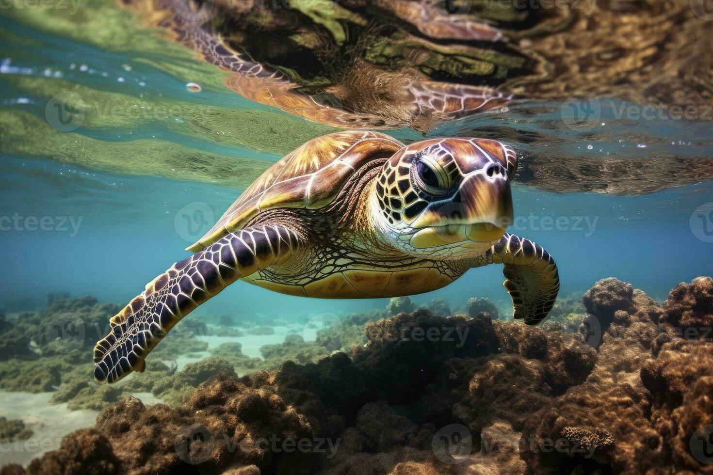
{"type": "Polygon", "coordinates": [[[515,151],[495,140],[415,142],[386,161],[374,213],[389,239],[414,256],[483,254],[513,220],[515,151]]]}

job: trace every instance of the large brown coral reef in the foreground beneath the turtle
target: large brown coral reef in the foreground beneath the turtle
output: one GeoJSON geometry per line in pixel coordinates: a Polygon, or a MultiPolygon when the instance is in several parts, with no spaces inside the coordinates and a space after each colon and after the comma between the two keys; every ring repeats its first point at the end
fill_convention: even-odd
{"type": "MultiPolygon", "coordinates": [[[[234,368],[247,357],[228,345],[214,354],[235,360],[153,383],[173,404],[123,398],[65,442],[83,473],[713,473],[696,449],[713,428],[713,343],[700,330],[712,288],[679,284],[659,306],[602,279],[571,332],[426,308],[352,315],[342,323],[366,323],[364,345],[328,350],[319,338],[334,343],[334,325],[314,342],[289,335],[262,351],[292,361],[244,377],[234,368]]],[[[63,449],[26,473],[49,471],[78,473],[63,449]]]]}

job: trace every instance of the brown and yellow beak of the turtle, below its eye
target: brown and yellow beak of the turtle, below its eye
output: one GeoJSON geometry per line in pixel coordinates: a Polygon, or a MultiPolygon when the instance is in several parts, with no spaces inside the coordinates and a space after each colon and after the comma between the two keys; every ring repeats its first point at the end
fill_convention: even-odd
{"type": "Polygon", "coordinates": [[[411,224],[422,229],[416,233],[420,238],[412,239],[411,244],[432,247],[474,241],[490,246],[512,222],[510,179],[505,167],[493,164],[490,169],[468,174],[450,198],[431,202],[411,224]]]}

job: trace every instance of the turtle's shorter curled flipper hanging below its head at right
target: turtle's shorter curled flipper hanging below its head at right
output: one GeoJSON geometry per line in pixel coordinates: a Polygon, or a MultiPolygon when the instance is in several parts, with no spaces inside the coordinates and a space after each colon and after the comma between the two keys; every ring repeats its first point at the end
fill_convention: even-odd
{"type": "Polygon", "coordinates": [[[550,253],[529,239],[506,233],[488,253],[493,263],[503,263],[503,283],[513,299],[513,318],[528,325],[545,319],[560,290],[557,264],[550,253]]]}

